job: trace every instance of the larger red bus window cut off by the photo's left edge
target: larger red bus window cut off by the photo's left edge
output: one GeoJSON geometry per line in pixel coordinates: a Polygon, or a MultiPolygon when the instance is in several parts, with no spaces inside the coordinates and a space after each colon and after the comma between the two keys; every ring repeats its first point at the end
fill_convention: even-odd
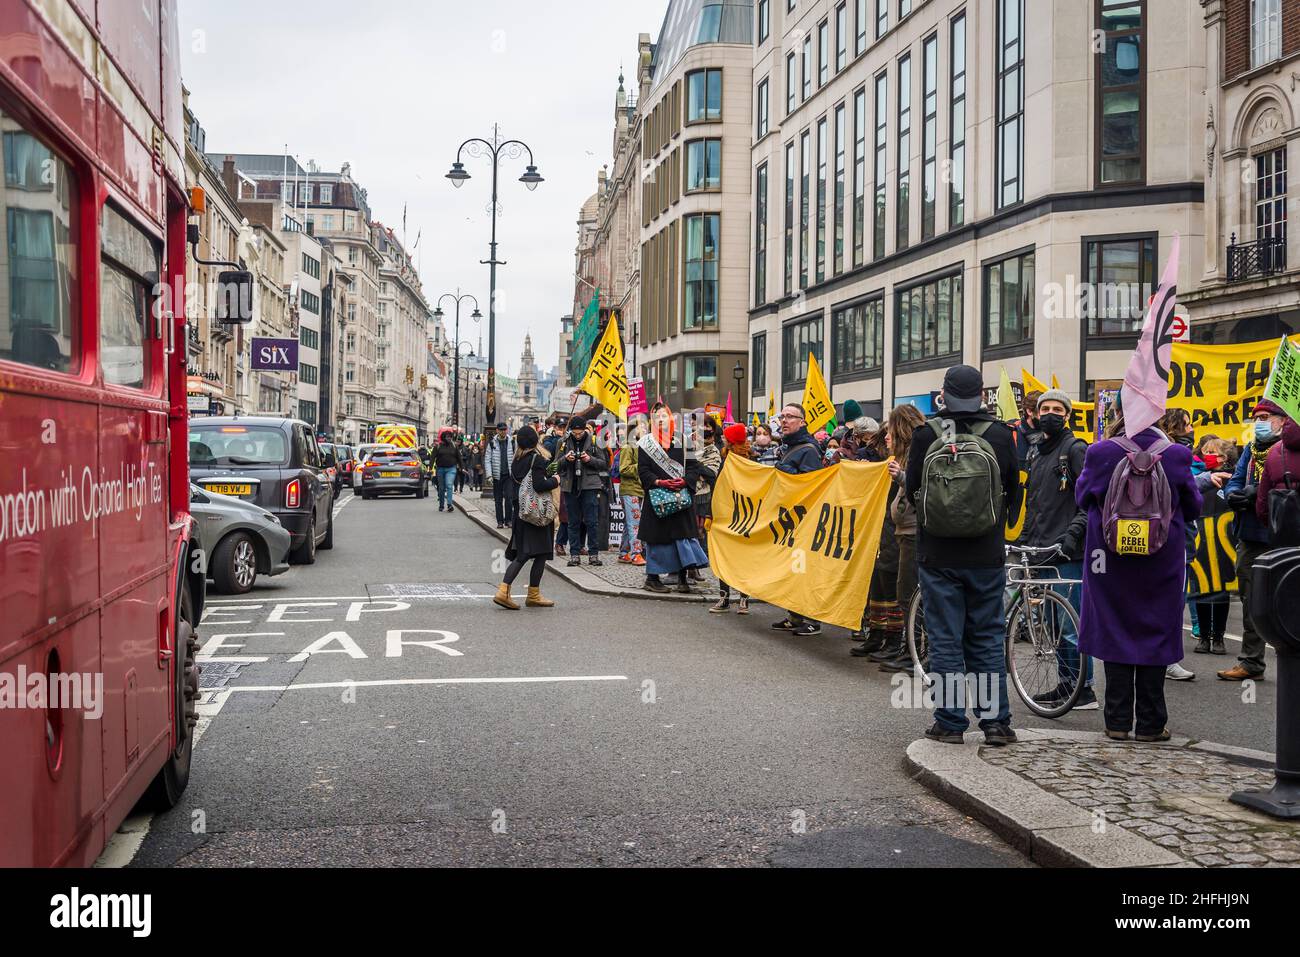
{"type": "Polygon", "coordinates": [[[72,169],[0,107],[5,242],[0,359],[77,372],[77,195],[72,169]]]}

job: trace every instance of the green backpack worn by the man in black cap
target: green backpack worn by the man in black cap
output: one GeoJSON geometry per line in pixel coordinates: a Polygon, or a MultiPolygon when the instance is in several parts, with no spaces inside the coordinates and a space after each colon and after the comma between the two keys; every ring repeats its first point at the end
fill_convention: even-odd
{"type": "Polygon", "coordinates": [[[975,423],[970,432],[950,425],[953,434],[945,438],[944,421],[930,420],[939,438],[926,451],[916,519],[926,534],[982,538],[1004,524],[1002,469],[983,438],[993,423],[975,423]]]}

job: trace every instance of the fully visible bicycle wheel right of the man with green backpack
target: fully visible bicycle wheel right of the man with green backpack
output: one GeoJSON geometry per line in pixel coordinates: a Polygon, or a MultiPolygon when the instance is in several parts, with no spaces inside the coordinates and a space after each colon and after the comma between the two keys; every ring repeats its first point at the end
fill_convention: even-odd
{"type": "MultiPolygon", "coordinates": [[[[1079,616],[1069,601],[1049,589],[1035,589],[1032,594],[1022,592],[1006,619],[1008,677],[1024,706],[1043,718],[1067,714],[1083,689],[1080,674],[1071,670],[1061,654],[1069,646],[1066,622],[1078,635],[1079,616]],[[1036,697],[1048,700],[1035,701],[1036,697]]],[[[1080,658],[1079,671],[1082,668],[1080,658]]]]}

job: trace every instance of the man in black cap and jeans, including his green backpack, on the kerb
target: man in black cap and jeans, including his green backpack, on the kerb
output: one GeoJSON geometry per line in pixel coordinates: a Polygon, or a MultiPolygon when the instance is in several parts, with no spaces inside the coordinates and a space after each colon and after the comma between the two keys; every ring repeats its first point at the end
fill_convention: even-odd
{"type": "Polygon", "coordinates": [[[1015,741],[1002,592],[1005,524],[1020,507],[1020,475],[1011,429],[984,411],[979,369],[948,369],[942,399],[942,417],[913,433],[905,485],[916,505],[916,562],[937,692],[926,736],[962,742],[970,727],[966,676],[972,675],[979,687],[996,688],[996,701],[968,703],[984,741],[1000,746],[1015,741]]]}

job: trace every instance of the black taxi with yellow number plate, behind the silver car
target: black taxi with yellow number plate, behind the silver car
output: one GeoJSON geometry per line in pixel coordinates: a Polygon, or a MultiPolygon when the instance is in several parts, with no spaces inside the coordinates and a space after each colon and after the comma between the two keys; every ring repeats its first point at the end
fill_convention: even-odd
{"type": "Polygon", "coordinates": [[[298,419],[190,420],[190,478],[272,512],[292,537],[290,560],[311,564],[334,547],[334,489],[312,426],[298,419]]]}

